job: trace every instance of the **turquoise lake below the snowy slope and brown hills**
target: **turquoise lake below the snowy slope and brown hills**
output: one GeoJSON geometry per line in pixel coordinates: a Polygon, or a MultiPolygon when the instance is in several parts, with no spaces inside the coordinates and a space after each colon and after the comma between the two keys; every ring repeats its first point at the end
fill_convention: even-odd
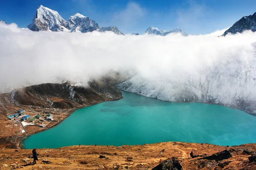
{"type": "Polygon", "coordinates": [[[23,147],[197,142],[256,143],[256,116],[220,105],[170,103],[122,92],[113,102],[76,110],[59,125],[29,136],[23,147]]]}

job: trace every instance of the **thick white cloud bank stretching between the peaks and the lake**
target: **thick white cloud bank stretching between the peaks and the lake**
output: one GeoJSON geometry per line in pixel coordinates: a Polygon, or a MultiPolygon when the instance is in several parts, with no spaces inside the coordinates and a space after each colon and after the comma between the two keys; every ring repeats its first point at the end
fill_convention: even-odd
{"type": "MultiPolygon", "coordinates": [[[[256,33],[218,37],[222,33],[120,36],[112,32],[33,32],[15,24],[0,24],[0,84],[19,87],[52,82],[56,77],[87,81],[110,70],[135,70],[141,79],[175,82],[180,88],[188,82],[200,82],[202,77],[202,81],[207,77],[222,79],[210,82],[227,93],[240,89],[239,94],[255,99],[252,44],[256,33]]],[[[163,92],[168,94],[173,87],[169,85],[163,92]]]]}

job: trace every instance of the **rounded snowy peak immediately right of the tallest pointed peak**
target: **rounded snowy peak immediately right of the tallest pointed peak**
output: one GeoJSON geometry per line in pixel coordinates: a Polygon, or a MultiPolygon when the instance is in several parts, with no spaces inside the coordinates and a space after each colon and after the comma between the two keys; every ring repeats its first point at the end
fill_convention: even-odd
{"type": "Polygon", "coordinates": [[[67,28],[70,29],[70,32],[85,33],[99,31],[98,23],[79,13],[76,13],[69,18],[67,28]]]}

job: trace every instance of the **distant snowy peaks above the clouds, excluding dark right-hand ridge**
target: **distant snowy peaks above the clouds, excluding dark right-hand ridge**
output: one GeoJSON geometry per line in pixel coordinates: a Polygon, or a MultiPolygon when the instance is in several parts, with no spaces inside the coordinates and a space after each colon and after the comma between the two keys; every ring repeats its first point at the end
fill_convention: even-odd
{"type": "MultiPolygon", "coordinates": [[[[72,15],[69,20],[64,20],[57,11],[50,8],[39,6],[36,10],[36,14],[31,24],[27,26],[32,31],[67,31],[67,32],[92,32],[92,31],[113,31],[118,35],[125,35],[115,26],[102,27],[100,28],[98,23],[91,20],[89,17],[85,17],[82,14],[76,13],[72,15]]],[[[184,36],[188,34],[182,31],[180,28],[176,28],[172,31],[159,30],[154,27],[149,27],[145,34],[161,35],[165,36],[170,33],[181,33],[184,36]]],[[[134,33],[132,35],[139,35],[134,33]]]]}

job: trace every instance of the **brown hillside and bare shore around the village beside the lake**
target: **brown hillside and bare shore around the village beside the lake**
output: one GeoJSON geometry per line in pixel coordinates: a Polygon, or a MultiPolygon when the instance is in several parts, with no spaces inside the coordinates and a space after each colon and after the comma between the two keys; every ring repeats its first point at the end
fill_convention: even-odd
{"type": "Polygon", "coordinates": [[[0,94],[0,147],[18,148],[24,136],[57,125],[77,108],[121,98],[122,94],[119,90],[101,80],[88,82],[87,87],[72,86],[69,82],[46,83],[2,93],[0,94]],[[25,122],[33,125],[23,127],[21,118],[13,120],[7,118],[19,109],[24,109],[24,115],[30,116],[25,122]],[[38,114],[42,119],[29,121],[38,114]],[[47,114],[52,115],[51,122],[46,121],[47,114]]]}

